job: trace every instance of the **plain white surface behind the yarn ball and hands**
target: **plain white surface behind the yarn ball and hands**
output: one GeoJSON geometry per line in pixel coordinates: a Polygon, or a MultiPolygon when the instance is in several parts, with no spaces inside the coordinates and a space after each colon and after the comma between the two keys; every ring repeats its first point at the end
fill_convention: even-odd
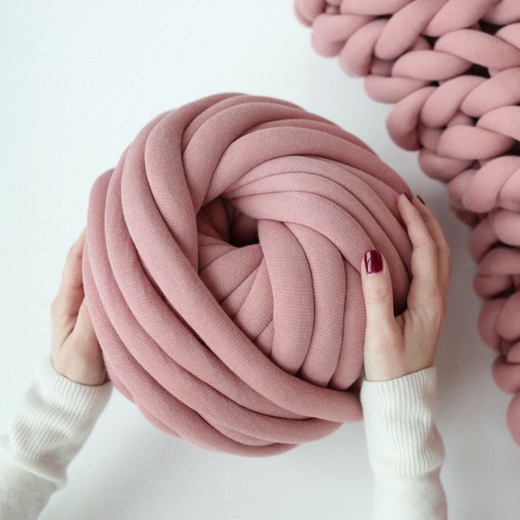
{"type": "MultiPolygon", "coordinates": [[[[0,53],[0,432],[49,351],[49,304],[95,177],[159,112],[223,91],[271,95],[353,131],[439,215],[454,256],[437,355],[450,517],[518,519],[520,447],[476,331],[468,231],[391,143],[389,107],[312,52],[290,0],[2,0],[0,53]]],[[[362,423],[244,459],[167,437],[114,391],[42,518],[368,519],[371,494],[362,423]]]]}

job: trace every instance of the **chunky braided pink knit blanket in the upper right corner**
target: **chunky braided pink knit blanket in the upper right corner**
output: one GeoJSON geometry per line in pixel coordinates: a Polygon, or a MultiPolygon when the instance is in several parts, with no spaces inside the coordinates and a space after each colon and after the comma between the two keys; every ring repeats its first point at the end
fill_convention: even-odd
{"type": "Polygon", "coordinates": [[[516,394],[507,420],[520,444],[520,1],[297,0],[314,49],[366,76],[395,103],[387,128],[420,150],[473,226],[480,334],[499,355],[493,375],[516,394]]]}

